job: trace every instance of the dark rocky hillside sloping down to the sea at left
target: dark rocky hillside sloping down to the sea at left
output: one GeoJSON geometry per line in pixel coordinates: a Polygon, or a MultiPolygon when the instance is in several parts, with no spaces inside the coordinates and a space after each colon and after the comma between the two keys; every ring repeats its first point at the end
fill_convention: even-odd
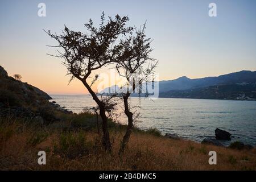
{"type": "MultiPolygon", "coordinates": [[[[64,111],[49,102],[52,98],[39,88],[15,80],[0,66],[0,117],[40,117],[44,121],[57,120],[55,111],[64,111]]],[[[59,106],[58,106],[59,107],[59,106]]]]}

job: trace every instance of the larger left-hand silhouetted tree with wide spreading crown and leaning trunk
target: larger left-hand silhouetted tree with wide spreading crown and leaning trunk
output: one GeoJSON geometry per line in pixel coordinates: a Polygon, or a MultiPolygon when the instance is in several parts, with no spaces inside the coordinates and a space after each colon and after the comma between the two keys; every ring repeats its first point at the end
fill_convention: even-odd
{"type": "Polygon", "coordinates": [[[108,151],[112,150],[106,117],[109,105],[91,88],[97,77],[93,78],[92,84],[89,84],[89,78],[93,71],[120,60],[123,45],[118,39],[134,30],[133,27],[126,27],[128,20],[127,16],[115,15],[114,19],[109,16],[108,22],[104,24],[105,16],[102,13],[100,27],[94,27],[90,19],[89,23],[85,24],[88,31],[85,33],[69,30],[66,26],[61,35],[47,31],[47,34],[59,43],[57,47],[63,49],[62,52],[58,51],[58,55],[52,56],[64,59],[63,64],[67,67],[68,74],[72,75],[71,81],[73,78],[79,79],[96,101],[102,119],[102,144],[108,151]]]}

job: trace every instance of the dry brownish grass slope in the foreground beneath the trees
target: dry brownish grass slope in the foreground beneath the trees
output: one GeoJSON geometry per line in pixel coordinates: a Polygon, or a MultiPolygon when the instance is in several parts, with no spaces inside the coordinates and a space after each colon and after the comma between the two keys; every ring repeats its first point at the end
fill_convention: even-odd
{"type": "MultiPolygon", "coordinates": [[[[56,124],[55,124],[56,125],[56,124]]],[[[125,154],[118,156],[122,131],[111,131],[113,154],[101,148],[96,131],[63,131],[24,122],[1,124],[0,169],[6,170],[255,170],[256,150],[238,151],[134,132],[125,154]],[[47,164],[38,164],[38,151],[47,164]],[[217,152],[209,165],[208,152],[217,152]]]]}

